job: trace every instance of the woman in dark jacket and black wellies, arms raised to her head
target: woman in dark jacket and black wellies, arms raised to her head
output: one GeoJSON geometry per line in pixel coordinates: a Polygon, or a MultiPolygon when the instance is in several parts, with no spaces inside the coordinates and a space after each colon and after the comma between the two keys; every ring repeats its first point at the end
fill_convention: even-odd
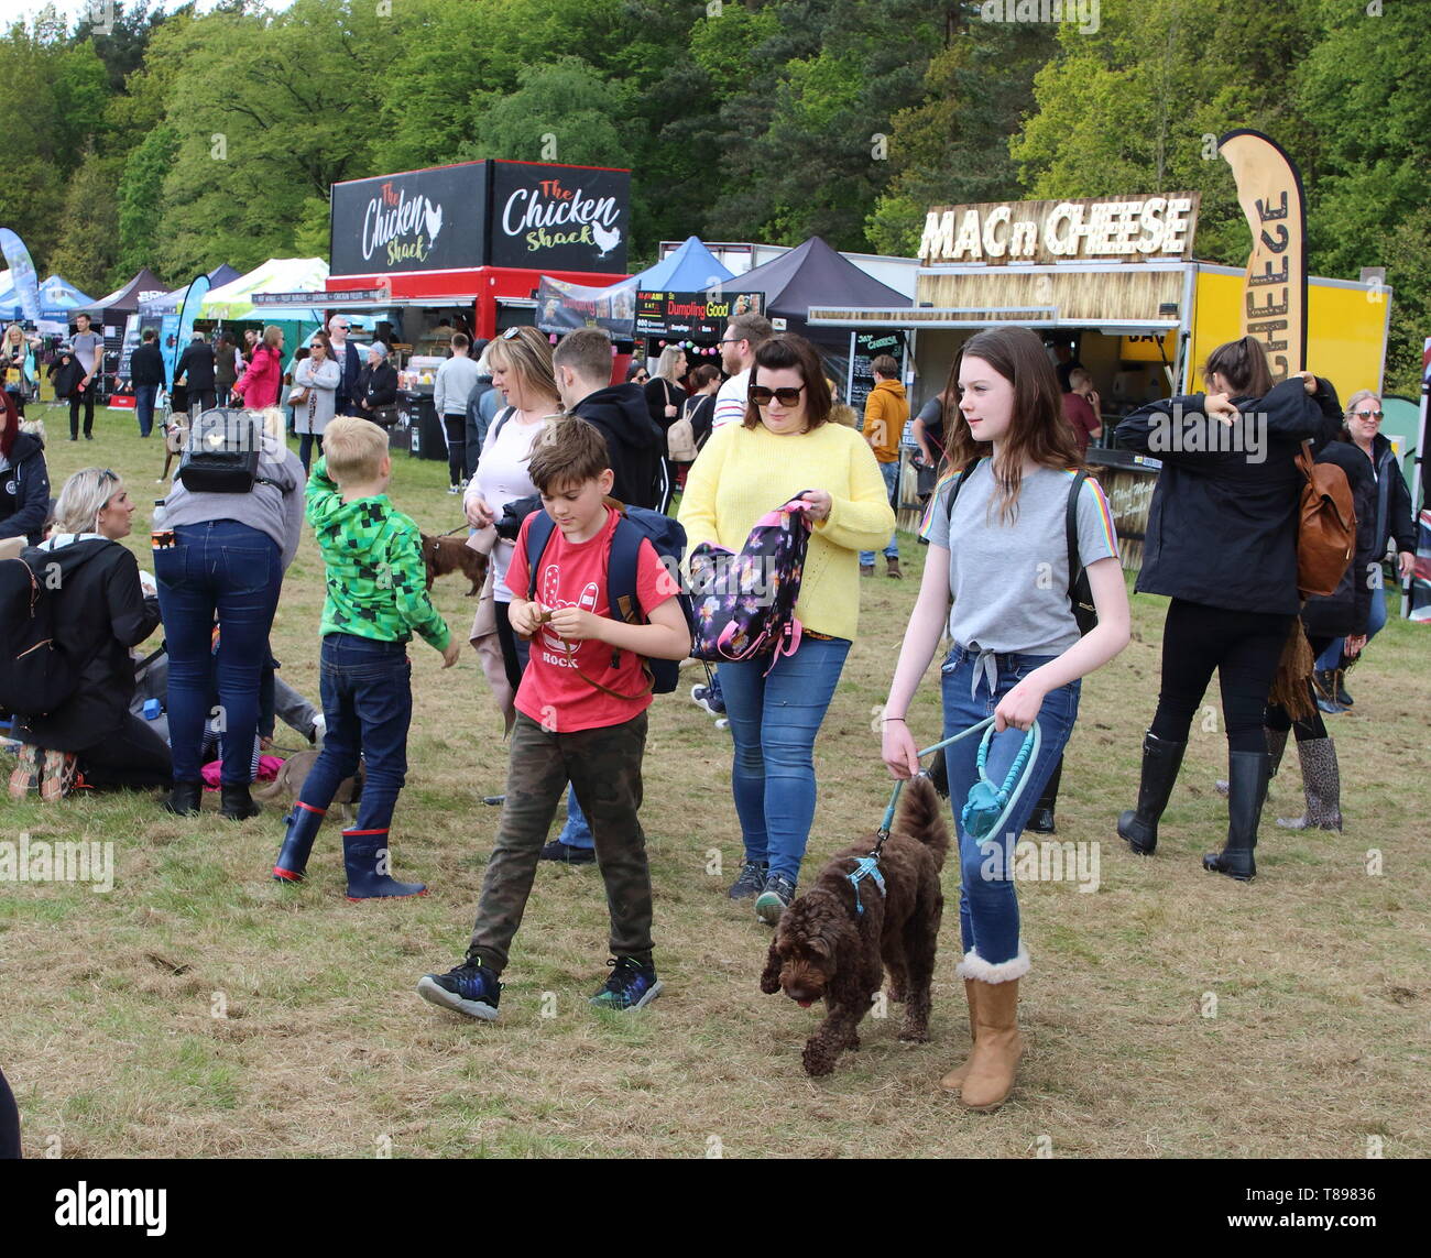
{"type": "Polygon", "coordinates": [[[1309,374],[1272,386],[1266,352],[1244,336],[1208,356],[1208,394],[1143,406],[1119,445],[1162,459],[1138,590],[1168,594],[1162,690],[1143,738],[1138,807],[1118,819],[1133,852],[1158,846],[1192,714],[1218,673],[1228,733],[1228,843],[1208,870],[1246,880],[1271,776],[1262,720],[1292,618],[1302,441],[1324,444],[1341,418],[1331,384],[1309,374]]]}

